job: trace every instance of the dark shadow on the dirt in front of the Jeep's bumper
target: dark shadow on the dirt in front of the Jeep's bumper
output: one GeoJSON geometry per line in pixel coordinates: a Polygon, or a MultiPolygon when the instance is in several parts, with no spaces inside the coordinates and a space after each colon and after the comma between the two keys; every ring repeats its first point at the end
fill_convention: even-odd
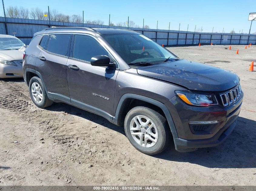
{"type": "Polygon", "coordinates": [[[172,141],[169,148],[153,157],[168,161],[188,162],[209,168],[255,168],[255,128],[256,121],[238,117],[234,131],[221,145],[181,153],[175,150],[172,141]]]}

